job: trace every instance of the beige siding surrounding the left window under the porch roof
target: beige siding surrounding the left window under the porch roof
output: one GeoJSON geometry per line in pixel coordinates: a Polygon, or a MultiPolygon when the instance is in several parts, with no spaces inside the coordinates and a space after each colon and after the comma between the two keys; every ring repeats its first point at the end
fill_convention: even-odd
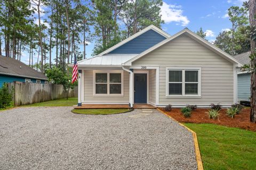
{"type": "Polygon", "coordinates": [[[129,104],[129,73],[124,71],[124,96],[95,97],[93,96],[93,71],[84,71],[84,101],[90,103],[125,103],[129,104]]]}

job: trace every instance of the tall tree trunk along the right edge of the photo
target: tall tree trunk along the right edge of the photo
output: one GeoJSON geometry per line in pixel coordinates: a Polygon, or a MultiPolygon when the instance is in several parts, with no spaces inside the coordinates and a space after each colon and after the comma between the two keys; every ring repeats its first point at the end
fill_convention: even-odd
{"type": "MultiPolygon", "coordinates": [[[[256,27],[256,1],[255,0],[249,0],[249,20],[250,20],[250,26],[256,27]]],[[[255,52],[256,48],[256,41],[255,39],[251,39],[251,53],[255,52]]],[[[256,58],[251,61],[251,66],[254,68],[251,72],[251,114],[250,114],[250,120],[251,122],[256,122],[256,58]]]]}

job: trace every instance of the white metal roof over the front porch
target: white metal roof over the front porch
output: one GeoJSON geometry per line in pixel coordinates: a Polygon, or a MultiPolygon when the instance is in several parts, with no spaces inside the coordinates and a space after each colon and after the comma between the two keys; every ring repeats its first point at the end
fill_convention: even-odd
{"type": "Polygon", "coordinates": [[[138,54],[107,54],[103,56],[96,56],[88,58],[82,62],[79,62],[79,66],[121,66],[126,61],[137,56],[138,54]]]}

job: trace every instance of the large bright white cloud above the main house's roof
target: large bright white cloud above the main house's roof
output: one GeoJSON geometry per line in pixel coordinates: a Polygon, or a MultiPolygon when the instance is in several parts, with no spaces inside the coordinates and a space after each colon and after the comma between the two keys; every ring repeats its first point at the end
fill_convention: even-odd
{"type": "Polygon", "coordinates": [[[181,23],[182,26],[188,25],[190,21],[187,16],[182,15],[182,13],[183,11],[180,5],[171,5],[163,2],[163,6],[161,6],[160,14],[165,23],[178,22],[181,23]]]}

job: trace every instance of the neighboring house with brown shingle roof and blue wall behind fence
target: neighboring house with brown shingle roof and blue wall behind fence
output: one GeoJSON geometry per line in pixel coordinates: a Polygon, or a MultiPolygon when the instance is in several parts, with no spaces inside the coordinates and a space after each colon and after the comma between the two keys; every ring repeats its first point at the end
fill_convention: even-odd
{"type": "Polygon", "coordinates": [[[30,66],[10,57],[0,55],[0,88],[5,82],[47,83],[47,77],[30,66]]]}

